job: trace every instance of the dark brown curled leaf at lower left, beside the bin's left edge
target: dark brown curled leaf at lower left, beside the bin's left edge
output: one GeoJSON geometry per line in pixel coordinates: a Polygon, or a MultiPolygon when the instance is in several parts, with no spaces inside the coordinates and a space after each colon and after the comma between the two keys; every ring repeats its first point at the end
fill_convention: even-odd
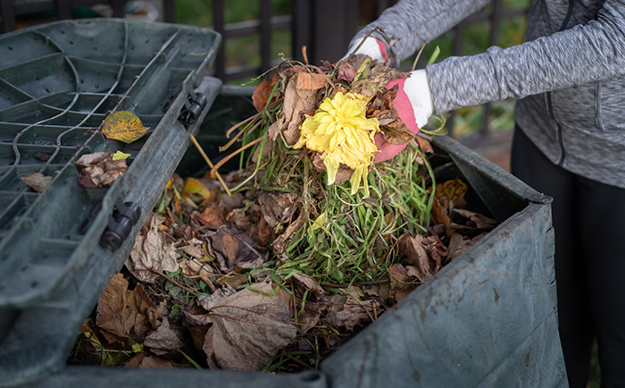
{"type": "Polygon", "coordinates": [[[96,325],[117,337],[143,337],[156,327],[156,305],[141,284],[128,290],[122,274],[114,274],[97,302],[96,325]]]}

